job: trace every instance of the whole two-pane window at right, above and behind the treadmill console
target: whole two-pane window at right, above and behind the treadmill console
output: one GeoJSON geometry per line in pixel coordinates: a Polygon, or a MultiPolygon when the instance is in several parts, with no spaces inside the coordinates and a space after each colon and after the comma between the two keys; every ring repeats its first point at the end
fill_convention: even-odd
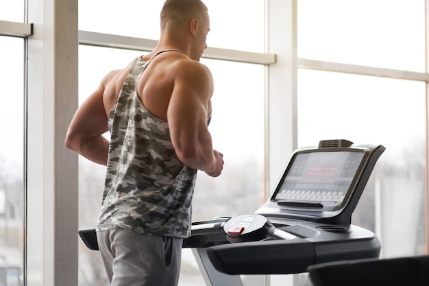
{"type": "Polygon", "coordinates": [[[299,58],[324,61],[298,72],[299,146],[349,139],[387,147],[352,223],[375,232],[388,258],[427,253],[426,82],[388,70],[425,71],[424,12],[425,1],[298,1],[299,58]],[[349,65],[347,73],[332,62],[349,65]],[[362,71],[354,64],[376,76],[353,74],[362,71]]]}

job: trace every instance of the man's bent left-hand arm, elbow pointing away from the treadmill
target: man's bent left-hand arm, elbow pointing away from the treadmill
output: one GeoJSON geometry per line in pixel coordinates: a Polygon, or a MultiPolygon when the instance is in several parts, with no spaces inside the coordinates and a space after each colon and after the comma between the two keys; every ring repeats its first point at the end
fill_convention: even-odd
{"type": "Polygon", "coordinates": [[[106,75],[99,88],[77,108],[65,139],[67,148],[101,165],[107,165],[108,158],[109,142],[102,136],[108,131],[103,93],[111,76],[112,73],[106,75]]]}

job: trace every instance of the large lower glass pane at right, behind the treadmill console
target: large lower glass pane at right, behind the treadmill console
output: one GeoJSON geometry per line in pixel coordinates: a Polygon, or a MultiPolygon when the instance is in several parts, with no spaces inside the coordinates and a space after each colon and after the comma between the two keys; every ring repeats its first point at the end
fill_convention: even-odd
{"type": "Polygon", "coordinates": [[[348,139],[387,148],[352,217],[376,232],[382,257],[425,252],[425,88],[424,82],[299,70],[300,147],[348,139]]]}

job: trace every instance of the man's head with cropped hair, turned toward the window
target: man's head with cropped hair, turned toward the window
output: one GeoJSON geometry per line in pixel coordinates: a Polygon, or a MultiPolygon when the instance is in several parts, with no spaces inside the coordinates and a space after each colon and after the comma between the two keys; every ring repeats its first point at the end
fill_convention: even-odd
{"type": "Polygon", "coordinates": [[[199,60],[207,47],[206,36],[210,30],[207,6],[201,0],[167,0],[160,19],[161,33],[190,37],[190,57],[199,60]]]}

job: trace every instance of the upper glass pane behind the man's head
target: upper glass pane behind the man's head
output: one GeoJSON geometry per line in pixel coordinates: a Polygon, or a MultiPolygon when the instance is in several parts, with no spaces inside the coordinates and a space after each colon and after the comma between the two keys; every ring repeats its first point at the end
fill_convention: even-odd
{"type": "MultiPolygon", "coordinates": [[[[209,47],[263,52],[264,1],[228,1],[228,9],[225,1],[204,3],[210,14],[209,47]],[[225,19],[234,19],[233,28],[225,19]]],[[[79,29],[158,40],[163,4],[164,0],[79,1],[79,29]]]]}

